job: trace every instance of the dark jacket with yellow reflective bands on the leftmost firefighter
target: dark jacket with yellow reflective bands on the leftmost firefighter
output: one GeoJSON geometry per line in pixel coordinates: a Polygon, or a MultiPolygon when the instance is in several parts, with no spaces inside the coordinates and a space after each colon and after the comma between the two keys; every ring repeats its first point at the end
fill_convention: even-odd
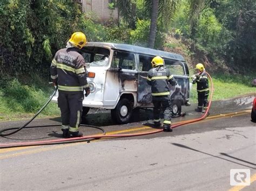
{"type": "Polygon", "coordinates": [[[78,48],[63,48],[57,51],[51,62],[51,79],[58,79],[58,90],[65,93],[77,93],[89,86],[85,61],[78,48]]]}

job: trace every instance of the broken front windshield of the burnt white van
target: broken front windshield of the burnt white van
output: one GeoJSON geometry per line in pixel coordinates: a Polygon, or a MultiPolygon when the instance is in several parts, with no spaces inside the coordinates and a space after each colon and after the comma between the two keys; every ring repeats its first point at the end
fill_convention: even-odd
{"type": "Polygon", "coordinates": [[[102,47],[83,47],[82,55],[89,66],[107,66],[109,65],[110,50],[102,47]]]}

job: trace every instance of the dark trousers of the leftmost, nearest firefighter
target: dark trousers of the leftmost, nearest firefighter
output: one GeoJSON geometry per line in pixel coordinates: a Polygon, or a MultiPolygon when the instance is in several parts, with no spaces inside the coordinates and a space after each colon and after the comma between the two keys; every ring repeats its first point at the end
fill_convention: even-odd
{"type": "Polygon", "coordinates": [[[83,93],[65,94],[59,91],[58,107],[62,117],[62,129],[79,132],[82,121],[83,93]]]}

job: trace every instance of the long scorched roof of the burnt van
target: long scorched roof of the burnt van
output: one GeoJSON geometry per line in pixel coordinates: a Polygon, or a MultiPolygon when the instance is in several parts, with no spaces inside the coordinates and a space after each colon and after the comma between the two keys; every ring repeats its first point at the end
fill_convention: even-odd
{"type": "Polygon", "coordinates": [[[88,42],[86,46],[109,47],[111,49],[119,49],[122,51],[136,52],[136,53],[147,54],[152,56],[158,55],[163,58],[169,58],[169,59],[174,59],[178,61],[185,61],[183,56],[181,56],[180,54],[165,52],[165,51],[158,51],[157,49],[145,48],[145,47],[128,45],[128,44],[88,42]]]}

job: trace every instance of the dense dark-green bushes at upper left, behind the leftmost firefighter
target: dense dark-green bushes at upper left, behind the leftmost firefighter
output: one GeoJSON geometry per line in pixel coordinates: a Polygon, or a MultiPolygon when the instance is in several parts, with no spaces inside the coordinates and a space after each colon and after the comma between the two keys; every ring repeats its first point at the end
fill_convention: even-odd
{"type": "Polygon", "coordinates": [[[80,5],[72,1],[4,0],[0,4],[0,22],[0,33],[4,34],[0,43],[3,75],[40,72],[49,76],[52,55],[65,47],[73,32],[87,32],[96,40],[105,37],[104,30],[97,33],[80,5]]]}

